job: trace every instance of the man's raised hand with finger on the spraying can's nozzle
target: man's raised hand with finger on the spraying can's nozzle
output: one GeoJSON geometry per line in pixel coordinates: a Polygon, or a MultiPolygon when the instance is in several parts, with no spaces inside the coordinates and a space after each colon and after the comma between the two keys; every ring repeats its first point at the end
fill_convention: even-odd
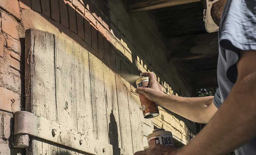
{"type": "Polygon", "coordinates": [[[153,72],[142,72],[140,75],[148,76],[150,79],[148,88],[137,88],[136,93],[141,93],[145,95],[149,100],[159,103],[161,102],[161,97],[165,96],[162,90],[162,86],[155,79],[153,72]]]}

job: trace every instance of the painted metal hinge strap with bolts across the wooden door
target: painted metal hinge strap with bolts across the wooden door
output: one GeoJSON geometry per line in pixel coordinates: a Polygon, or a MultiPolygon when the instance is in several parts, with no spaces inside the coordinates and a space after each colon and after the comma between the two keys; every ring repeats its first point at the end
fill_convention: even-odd
{"type": "Polygon", "coordinates": [[[14,135],[27,134],[90,154],[123,154],[123,150],[65,128],[27,111],[15,112],[14,135]]]}

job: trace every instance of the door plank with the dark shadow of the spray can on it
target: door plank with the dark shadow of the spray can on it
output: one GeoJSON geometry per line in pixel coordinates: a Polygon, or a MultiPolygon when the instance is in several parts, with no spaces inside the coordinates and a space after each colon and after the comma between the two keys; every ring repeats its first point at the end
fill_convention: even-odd
{"type": "Polygon", "coordinates": [[[121,131],[116,94],[116,77],[106,65],[103,64],[104,86],[107,100],[108,138],[109,144],[121,147],[121,131]]]}

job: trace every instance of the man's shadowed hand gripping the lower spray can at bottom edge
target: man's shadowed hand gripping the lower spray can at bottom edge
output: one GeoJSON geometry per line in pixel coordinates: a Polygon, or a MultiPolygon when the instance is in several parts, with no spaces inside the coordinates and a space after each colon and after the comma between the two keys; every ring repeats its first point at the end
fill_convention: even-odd
{"type": "Polygon", "coordinates": [[[134,153],[134,155],[177,155],[179,149],[173,146],[155,145],[134,153]]]}

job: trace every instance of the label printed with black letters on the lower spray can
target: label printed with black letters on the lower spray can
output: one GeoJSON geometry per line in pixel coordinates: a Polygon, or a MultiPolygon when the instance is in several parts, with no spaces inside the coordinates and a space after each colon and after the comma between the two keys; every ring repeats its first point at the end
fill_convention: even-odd
{"type": "Polygon", "coordinates": [[[157,144],[174,146],[172,135],[160,135],[160,136],[155,136],[148,139],[149,147],[155,146],[157,144]]]}

